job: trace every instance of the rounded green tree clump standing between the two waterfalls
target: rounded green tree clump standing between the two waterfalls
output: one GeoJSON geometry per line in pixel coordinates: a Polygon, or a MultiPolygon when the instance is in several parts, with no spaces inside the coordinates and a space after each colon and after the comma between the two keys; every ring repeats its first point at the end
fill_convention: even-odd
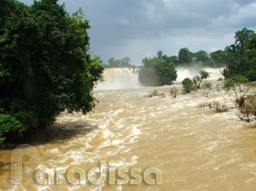
{"type": "Polygon", "coordinates": [[[147,58],[142,61],[144,66],[139,71],[139,81],[145,86],[163,86],[171,84],[177,78],[177,71],[172,62],[158,52],[158,57],[147,58]]]}

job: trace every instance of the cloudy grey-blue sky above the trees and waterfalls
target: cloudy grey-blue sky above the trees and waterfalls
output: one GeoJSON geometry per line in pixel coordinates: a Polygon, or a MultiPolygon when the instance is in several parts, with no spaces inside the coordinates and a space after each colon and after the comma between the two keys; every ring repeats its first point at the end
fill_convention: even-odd
{"type": "MultiPolygon", "coordinates": [[[[28,5],[33,0],[20,0],[28,5]]],[[[107,63],[131,58],[141,65],[158,50],[168,56],[180,48],[208,53],[234,43],[237,30],[256,30],[255,0],[59,0],[67,11],[83,8],[90,20],[91,50],[107,63]]]]}

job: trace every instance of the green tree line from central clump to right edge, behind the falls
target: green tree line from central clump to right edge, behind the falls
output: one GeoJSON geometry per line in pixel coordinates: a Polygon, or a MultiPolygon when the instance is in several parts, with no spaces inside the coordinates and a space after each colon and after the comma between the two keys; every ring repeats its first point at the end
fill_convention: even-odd
{"type": "Polygon", "coordinates": [[[223,70],[225,79],[241,74],[249,81],[256,81],[256,34],[243,28],[234,38],[234,44],[210,54],[205,50],[192,53],[188,48],[182,48],[178,56],[167,56],[160,50],[157,57],[142,60],[139,80],[146,86],[162,86],[176,80],[175,68],[178,66],[226,66],[223,70]]]}

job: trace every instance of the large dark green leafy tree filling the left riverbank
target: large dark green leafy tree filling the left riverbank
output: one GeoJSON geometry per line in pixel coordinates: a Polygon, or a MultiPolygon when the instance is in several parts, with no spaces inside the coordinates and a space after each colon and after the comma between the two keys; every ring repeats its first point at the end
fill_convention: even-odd
{"type": "Polygon", "coordinates": [[[99,58],[89,54],[89,21],[68,15],[57,0],[25,6],[2,0],[0,17],[0,138],[43,127],[67,109],[89,112],[99,58]]]}

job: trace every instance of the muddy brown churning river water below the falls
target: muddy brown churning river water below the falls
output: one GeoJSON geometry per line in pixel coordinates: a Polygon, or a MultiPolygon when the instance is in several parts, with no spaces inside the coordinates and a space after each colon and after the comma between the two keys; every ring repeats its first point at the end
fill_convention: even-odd
{"type": "MultiPolygon", "coordinates": [[[[82,168],[85,172],[105,160],[117,171],[128,167],[158,168],[161,185],[38,185],[35,172],[23,174],[23,184],[11,186],[11,152],[0,151],[0,189],[3,190],[255,190],[256,131],[236,116],[232,92],[222,82],[213,89],[169,95],[170,86],[130,90],[94,91],[100,101],[93,112],[63,112],[39,142],[38,168],[82,168]],[[166,96],[149,98],[157,90],[166,96]],[[229,112],[199,108],[203,102],[219,101],[229,112]]],[[[172,86],[173,87],[173,86],[172,86]]],[[[38,142],[38,144],[37,144],[38,142]]],[[[37,168],[37,169],[38,169],[37,168]]],[[[141,172],[141,174],[142,174],[141,172]]],[[[116,172],[115,172],[116,173],[116,172]]],[[[116,176],[118,179],[119,176],[116,176]]],[[[154,177],[153,177],[154,178],[154,177]]]]}

